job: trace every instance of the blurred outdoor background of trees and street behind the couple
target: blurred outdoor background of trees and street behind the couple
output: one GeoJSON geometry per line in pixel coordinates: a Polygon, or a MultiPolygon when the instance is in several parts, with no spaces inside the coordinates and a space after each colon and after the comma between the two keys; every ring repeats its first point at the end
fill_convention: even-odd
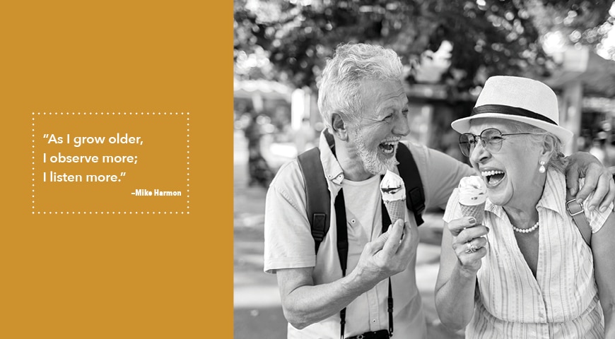
{"type": "MultiPolygon", "coordinates": [[[[489,76],[525,76],[558,95],[566,155],[615,165],[613,0],[234,0],[235,338],[286,338],[275,275],[263,266],[266,186],[324,128],[317,83],[342,42],[394,49],[404,64],[409,141],[461,161],[450,122],[489,76]]],[[[441,211],[421,226],[417,278],[429,338],[462,338],[433,307],[441,211]]]]}

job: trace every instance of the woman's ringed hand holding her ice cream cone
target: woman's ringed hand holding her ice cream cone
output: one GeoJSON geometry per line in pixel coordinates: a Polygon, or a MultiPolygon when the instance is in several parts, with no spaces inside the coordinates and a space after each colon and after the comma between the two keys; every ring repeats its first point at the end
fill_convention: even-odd
{"type": "Polygon", "coordinates": [[[452,249],[457,255],[462,273],[476,275],[481,268],[481,259],[486,256],[488,227],[476,225],[476,219],[464,217],[451,220],[448,230],[452,235],[452,249]]]}

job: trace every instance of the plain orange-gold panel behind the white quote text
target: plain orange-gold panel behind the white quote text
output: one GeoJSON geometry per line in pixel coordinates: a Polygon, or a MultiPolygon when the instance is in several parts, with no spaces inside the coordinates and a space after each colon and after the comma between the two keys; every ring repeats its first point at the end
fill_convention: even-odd
{"type": "MultiPolygon", "coordinates": [[[[0,338],[233,337],[232,6],[3,4],[0,338]],[[187,200],[146,205],[122,195],[141,185],[186,184],[182,119],[36,116],[41,129],[33,139],[33,112],[189,112],[189,209],[187,200]],[[103,148],[52,147],[42,134],[114,131],[146,143],[109,148],[139,156],[137,165],[100,169],[127,172],[121,183],[37,185],[35,209],[172,206],[190,214],[33,215],[33,140],[35,152],[93,154],[103,148]]],[[[56,167],[35,163],[35,171],[38,165],[56,167]]]]}

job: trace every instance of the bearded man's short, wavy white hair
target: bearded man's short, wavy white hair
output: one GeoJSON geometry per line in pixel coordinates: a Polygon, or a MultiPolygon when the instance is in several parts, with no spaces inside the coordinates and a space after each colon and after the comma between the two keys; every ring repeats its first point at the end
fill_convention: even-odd
{"type": "Polygon", "coordinates": [[[341,44],[322,71],[318,109],[331,131],[332,114],[339,112],[346,123],[361,117],[364,80],[402,81],[402,61],[392,49],[371,44],[341,44]]]}

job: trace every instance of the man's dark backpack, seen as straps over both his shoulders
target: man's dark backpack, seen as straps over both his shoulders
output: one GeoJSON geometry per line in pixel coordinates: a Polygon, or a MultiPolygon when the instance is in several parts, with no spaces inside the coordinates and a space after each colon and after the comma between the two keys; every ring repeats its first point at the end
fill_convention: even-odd
{"type": "MultiPolygon", "coordinates": [[[[330,136],[327,137],[331,143],[332,138],[330,136]]],[[[397,157],[397,162],[399,162],[397,165],[399,176],[402,177],[406,186],[406,206],[414,212],[416,225],[420,226],[423,224],[422,214],[425,210],[425,194],[423,193],[421,176],[418,174],[418,167],[416,167],[412,153],[403,143],[398,144],[395,156],[397,157]]],[[[322,163],[320,162],[320,150],[318,148],[306,150],[298,156],[298,161],[305,182],[307,219],[310,220],[312,237],[314,238],[316,252],[318,252],[322,239],[324,239],[324,236],[329,231],[329,216],[331,215],[331,197],[327,188],[327,179],[324,177],[324,169],[322,169],[322,163]]],[[[344,206],[343,201],[341,206],[344,206]]],[[[345,210],[342,209],[341,213],[336,212],[336,215],[338,215],[338,218],[342,216],[343,220],[346,220],[345,213],[345,210]]],[[[388,214],[385,212],[384,206],[382,215],[383,218],[388,220],[388,214]]],[[[339,221],[341,220],[338,219],[339,221]]],[[[345,222],[343,225],[346,225],[345,222]]],[[[383,223],[382,232],[385,232],[388,226],[388,223],[387,225],[383,223]]],[[[343,228],[345,229],[346,227],[343,228]]]]}

